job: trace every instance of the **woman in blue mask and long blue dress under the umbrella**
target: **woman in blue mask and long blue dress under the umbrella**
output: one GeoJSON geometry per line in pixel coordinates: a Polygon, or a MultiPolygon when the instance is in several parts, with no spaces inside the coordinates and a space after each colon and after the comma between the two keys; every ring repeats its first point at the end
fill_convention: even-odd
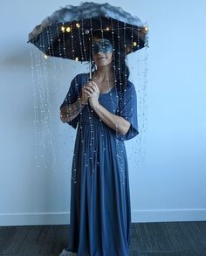
{"type": "Polygon", "coordinates": [[[60,107],[61,121],[73,128],[79,122],[70,236],[61,256],[128,255],[131,208],[124,141],[139,134],[137,102],[125,52],[114,51],[113,45],[111,38],[93,38],[92,80],[77,75],[60,107]]]}

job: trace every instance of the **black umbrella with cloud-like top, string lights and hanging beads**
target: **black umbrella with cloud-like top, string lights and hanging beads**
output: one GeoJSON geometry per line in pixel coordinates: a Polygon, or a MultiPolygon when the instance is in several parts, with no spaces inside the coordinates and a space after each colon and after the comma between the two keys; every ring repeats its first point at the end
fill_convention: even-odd
{"type": "Polygon", "coordinates": [[[113,38],[113,47],[126,54],[148,46],[148,26],[120,7],[109,3],[81,3],[66,5],[46,17],[29,34],[31,44],[45,56],[91,61],[91,47],[95,33],[113,38]]]}

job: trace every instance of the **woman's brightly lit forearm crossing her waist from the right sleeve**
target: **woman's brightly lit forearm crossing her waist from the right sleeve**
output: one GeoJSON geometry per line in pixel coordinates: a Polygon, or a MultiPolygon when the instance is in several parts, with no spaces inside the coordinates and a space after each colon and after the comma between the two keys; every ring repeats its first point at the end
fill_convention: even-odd
{"type": "Polygon", "coordinates": [[[106,125],[113,130],[119,132],[121,135],[126,135],[128,129],[130,128],[130,122],[125,120],[123,117],[112,114],[105,107],[96,103],[93,106],[93,110],[98,114],[100,119],[106,123],[106,125]]]}

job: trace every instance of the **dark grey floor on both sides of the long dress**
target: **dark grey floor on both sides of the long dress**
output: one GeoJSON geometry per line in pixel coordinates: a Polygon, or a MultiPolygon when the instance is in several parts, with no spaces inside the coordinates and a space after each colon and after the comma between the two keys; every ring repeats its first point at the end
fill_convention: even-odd
{"type": "MultiPolygon", "coordinates": [[[[58,256],[68,237],[69,225],[3,226],[0,255],[58,256]]],[[[130,256],[159,255],[206,256],[206,221],[132,224],[130,256]]]]}

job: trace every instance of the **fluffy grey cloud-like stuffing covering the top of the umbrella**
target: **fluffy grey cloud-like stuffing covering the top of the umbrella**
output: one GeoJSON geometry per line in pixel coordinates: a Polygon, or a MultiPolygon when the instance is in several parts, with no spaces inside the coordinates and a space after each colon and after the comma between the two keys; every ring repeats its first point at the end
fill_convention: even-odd
{"type": "Polygon", "coordinates": [[[56,10],[51,16],[46,17],[41,24],[38,24],[29,34],[29,40],[37,37],[45,28],[54,23],[70,22],[90,17],[112,17],[123,22],[142,26],[139,17],[132,16],[120,7],[114,7],[109,3],[81,3],[79,6],[66,5],[64,8],[56,10]]]}

